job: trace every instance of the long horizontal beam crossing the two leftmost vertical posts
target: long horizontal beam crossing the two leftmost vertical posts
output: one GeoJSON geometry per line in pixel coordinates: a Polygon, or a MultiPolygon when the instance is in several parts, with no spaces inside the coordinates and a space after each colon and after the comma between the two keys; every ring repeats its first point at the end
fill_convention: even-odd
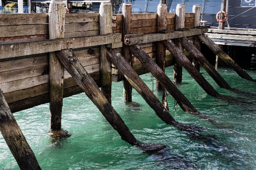
{"type": "Polygon", "coordinates": [[[99,46],[110,43],[117,43],[114,46],[118,48],[122,47],[119,43],[122,41],[121,37],[121,34],[110,34],[90,37],[62,38],[58,40],[43,40],[29,43],[5,44],[0,45],[0,59],[54,52],[62,49],[99,46]]]}

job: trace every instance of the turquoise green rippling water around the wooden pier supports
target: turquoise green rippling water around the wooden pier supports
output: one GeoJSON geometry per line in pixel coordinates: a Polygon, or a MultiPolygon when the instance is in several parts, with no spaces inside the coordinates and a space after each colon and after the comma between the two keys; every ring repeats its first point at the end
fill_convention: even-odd
{"type": "MultiPolygon", "coordinates": [[[[166,69],[172,78],[173,67],[166,69]]],[[[246,70],[256,79],[255,69],[246,70]]],[[[147,154],[122,141],[99,110],[84,93],[64,98],[62,128],[70,138],[52,141],[49,137],[49,104],[14,113],[23,134],[43,170],[254,170],[256,169],[256,92],[255,82],[240,78],[232,69],[221,67],[218,72],[231,87],[249,94],[236,94],[221,89],[201,69],[204,77],[224,95],[246,98],[248,102],[227,103],[204,92],[183,69],[183,83],[176,84],[201,113],[219,123],[217,127],[194,115],[175,111],[174,99],[169,95],[169,112],[180,123],[207,127],[201,132],[212,141],[190,138],[175,127],[166,125],[133,90],[134,103],[122,100],[122,82],[113,83],[112,104],[134,136],[143,142],[165,144],[170,150],[147,154]]],[[[155,89],[151,75],[142,75],[150,89],[155,89]]],[[[155,79],[154,79],[155,84],[155,79]]],[[[154,93],[159,99],[162,92],[154,93]]],[[[19,167],[0,135],[0,170],[18,170],[19,167]]]]}

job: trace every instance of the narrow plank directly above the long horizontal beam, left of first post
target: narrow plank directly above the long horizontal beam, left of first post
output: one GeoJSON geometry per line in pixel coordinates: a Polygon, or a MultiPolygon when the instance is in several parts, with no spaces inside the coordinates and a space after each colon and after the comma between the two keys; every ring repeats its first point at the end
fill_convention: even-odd
{"type": "Polygon", "coordinates": [[[49,34],[27,35],[27,36],[19,36],[19,37],[4,37],[4,38],[0,38],[0,44],[24,43],[24,42],[41,41],[41,40],[49,40],[49,34]]]}

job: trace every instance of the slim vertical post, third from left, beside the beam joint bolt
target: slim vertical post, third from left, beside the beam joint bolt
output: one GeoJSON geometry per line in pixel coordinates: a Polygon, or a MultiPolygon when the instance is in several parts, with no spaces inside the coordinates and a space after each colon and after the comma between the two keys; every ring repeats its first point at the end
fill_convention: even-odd
{"type": "MultiPolygon", "coordinates": [[[[122,6],[122,15],[123,15],[123,36],[127,34],[131,34],[131,3],[123,3],[122,6]]],[[[131,61],[131,52],[128,49],[128,46],[125,45],[123,41],[122,46],[122,54],[128,63],[132,66],[131,61]]],[[[131,102],[131,91],[132,86],[131,84],[124,78],[124,101],[131,102]]]]}

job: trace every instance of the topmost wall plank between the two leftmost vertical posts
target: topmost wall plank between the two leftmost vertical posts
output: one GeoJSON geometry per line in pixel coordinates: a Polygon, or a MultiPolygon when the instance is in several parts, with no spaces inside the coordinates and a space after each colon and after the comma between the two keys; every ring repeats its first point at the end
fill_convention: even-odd
{"type": "Polygon", "coordinates": [[[99,22],[99,13],[65,14],[65,23],[99,22]]]}

